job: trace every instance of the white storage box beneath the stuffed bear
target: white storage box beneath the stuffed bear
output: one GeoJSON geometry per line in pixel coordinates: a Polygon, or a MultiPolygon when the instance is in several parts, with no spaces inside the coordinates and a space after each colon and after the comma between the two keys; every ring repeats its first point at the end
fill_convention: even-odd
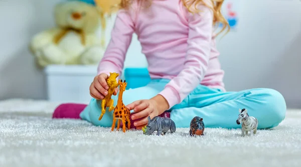
{"type": "Polygon", "coordinates": [[[45,68],[48,100],[88,104],[89,87],[97,75],[97,66],[50,65],[45,68]]]}

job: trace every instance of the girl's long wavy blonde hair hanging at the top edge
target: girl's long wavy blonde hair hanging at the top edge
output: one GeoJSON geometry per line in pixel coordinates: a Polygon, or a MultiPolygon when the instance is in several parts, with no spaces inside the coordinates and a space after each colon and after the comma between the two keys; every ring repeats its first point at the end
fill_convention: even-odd
{"type": "MultiPolygon", "coordinates": [[[[120,0],[119,8],[121,9],[128,9],[128,7],[131,5],[133,0],[120,0]]],[[[152,3],[152,0],[138,0],[141,2],[145,2],[145,4],[150,5],[152,3]]],[[[209,6],[204,2],[204,0],[181,0],[183,2],[183,5],[187,8],[187,10],[190,13],[199,13],[202,11],[198,10],[199,5],[205,5],[206,7],[210,8],[213,11],[213,25],[219,26],[219,24],[222,24],[222,30],[217,33],[219,35],[223,31],[227,29],[227,32],[230,30],[230,26],[227,22],[227,20],[224,18],[224,16],[221,14],[221,8],[224,3],[224,0],[209,0],[212,2],[213,6],[209,6]]]]}

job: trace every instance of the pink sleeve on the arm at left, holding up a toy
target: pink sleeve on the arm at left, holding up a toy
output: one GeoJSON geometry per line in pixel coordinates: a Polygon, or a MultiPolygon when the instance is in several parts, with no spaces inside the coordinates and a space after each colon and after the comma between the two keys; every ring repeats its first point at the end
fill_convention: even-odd
{"type": "Polygon", "coordinates": [[[97,74],[110,72],[121,75],[125,55],[132,40],[134,23],[130,14],[119,10],[111,32],[111,40],[106,48],[103,58],[98,64],[97,74]]]}

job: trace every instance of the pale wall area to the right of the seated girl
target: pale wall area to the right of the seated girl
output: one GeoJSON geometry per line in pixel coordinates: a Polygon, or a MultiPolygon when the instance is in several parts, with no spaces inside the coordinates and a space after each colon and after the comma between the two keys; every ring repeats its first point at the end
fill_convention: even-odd
{"type": "Polygon", "coordinates": [[[301,1],[244,0],[237,31],[218,42],[228,91],[267,87],[301,108],[301,1]]]}

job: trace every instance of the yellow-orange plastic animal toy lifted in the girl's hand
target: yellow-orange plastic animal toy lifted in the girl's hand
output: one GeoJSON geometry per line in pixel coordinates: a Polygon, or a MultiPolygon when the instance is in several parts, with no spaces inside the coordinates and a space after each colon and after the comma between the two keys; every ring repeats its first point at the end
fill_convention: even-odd
{"type": "Polygon", "coordinates": [[[98,118],[98,120],[101,120],[103,114],[105,114],[106,107],[109,107],[109,111],[112,111],[114,109],[114,101],[111,99],[111,96],[113,95],[115,89],[118,87],[118,83],[116,81],[116,78],[119,76],[117,73],[110,73],[109,78],[106,80],[109,89],[108,94],[102,99],[101,101],[101,114],[98,118]]]}

